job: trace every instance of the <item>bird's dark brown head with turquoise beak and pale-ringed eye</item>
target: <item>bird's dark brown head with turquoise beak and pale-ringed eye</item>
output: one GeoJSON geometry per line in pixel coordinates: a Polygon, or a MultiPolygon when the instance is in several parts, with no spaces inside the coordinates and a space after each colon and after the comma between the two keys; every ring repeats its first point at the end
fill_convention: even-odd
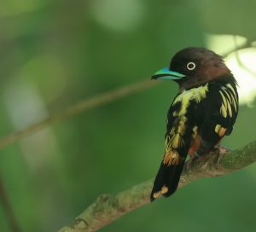
{"type": "Polygon", "coordinates": [[[181,90],[211,81],[233,78],[220,55],[204,48],[186,48],[172,57],[170,67],[154,73],[152,79],[175,80],[181,90]]]}

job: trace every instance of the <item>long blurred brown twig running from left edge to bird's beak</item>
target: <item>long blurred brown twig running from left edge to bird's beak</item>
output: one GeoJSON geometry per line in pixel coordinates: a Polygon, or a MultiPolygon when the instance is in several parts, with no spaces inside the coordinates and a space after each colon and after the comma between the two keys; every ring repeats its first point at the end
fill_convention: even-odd
{"type": "Polygon", "coordinates": [[[147,90],[148,88],[153,87],[155,84],[156,82],[150,82],[148,78],[147,80],[137,82],[136,84],[125,85],[124,87],[120,87],[116,90],[110,90],[108,92],[104,92],[102,94],[85,99],[84,101],[67,107],[58,113],[53,113],[49,116],[49,118],[44,119],[34,125],[28,126],[21,131],[16,131],[9,136],[4,136],[2,139],[0,139],[0,150],[13,142],[20,140],[22,137],[29,136],[37,131],[44,129],[52,123],[59,122],[63,119],[68,119],[82,111],[102,106],[108,102],[118,100],[121,97],[147,90]]]}

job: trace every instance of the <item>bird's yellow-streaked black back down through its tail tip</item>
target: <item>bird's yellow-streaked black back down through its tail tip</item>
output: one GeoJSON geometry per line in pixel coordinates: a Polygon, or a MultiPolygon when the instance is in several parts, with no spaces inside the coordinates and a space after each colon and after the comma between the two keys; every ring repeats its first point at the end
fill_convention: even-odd
{"type": "Polygon", "coordinates": [[[189,151],[194,129],[195,105],[207,93],[207,85],[179,93],[167,115],[165,154],[154,180],[151,200],[170,196],[177,189],[183,165],[189,151]]]}

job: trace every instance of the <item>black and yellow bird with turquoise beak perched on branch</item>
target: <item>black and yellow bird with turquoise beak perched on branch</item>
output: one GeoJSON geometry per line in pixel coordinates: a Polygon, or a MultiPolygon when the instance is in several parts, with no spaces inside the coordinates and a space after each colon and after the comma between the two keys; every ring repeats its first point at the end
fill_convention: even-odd
{"type": "Polygon", "coordinates": [[[167,112],[165,152],[150,194],[153,201],[176,190],[187,155],[212,151],[233,131],[238,113],[237,82],[224,58],[210,49],[189,47],[172,57],[154,80],[173,80],[179,90],[167,112]]]}

